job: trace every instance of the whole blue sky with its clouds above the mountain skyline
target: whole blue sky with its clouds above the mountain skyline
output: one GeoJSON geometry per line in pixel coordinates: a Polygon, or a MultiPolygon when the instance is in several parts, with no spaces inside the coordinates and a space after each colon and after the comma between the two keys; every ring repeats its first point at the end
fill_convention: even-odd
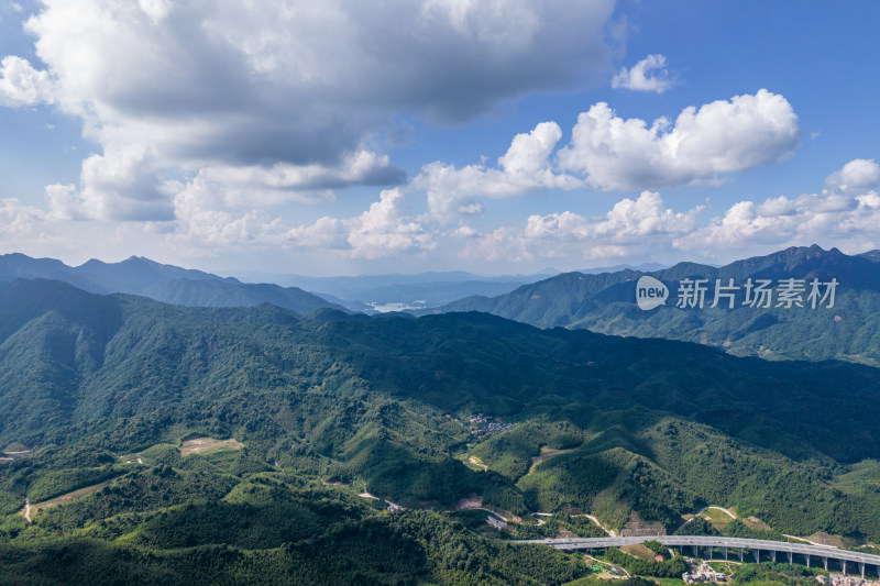
{"type": "Polygon", "coordinates": [[[3,2],[0,252],[334,275],[877,248],[878,22],[869,0],[3,2]]]}

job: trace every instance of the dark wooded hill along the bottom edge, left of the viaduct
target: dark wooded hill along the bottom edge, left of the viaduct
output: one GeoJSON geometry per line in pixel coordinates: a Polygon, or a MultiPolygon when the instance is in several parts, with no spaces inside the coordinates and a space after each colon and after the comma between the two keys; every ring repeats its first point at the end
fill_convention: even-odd
{"type": "MultiPolygon", "coordinates": [[[[0,583],[540,585],[585,574],[576,555],[514,549],[436,513],[380,512],[276,476],[242,483],[219,501],[205,495],[57,537],[37,522],[0,542],[0,583]]],[[[100,500],[84,501],[98,518],[100,500]]]]}

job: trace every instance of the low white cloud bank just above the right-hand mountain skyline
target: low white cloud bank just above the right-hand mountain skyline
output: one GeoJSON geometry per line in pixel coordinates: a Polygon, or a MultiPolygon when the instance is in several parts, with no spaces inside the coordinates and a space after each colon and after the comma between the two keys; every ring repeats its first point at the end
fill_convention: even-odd
{"type": "MultiPolygon", "coordinates": [[[[535,258],[612,261],[624,257],[729,262],[788,246],[818,243],[856,253],[880,247],[880,165],[855,159],[828,175],[826,188],[796,197],[743,200],[701,220],[705,206],[673,210],[660,194],[623,198],[604,215],[572,211],[530,215],[473,235],[462,256],[521,262],[535,258]]],[[[584,265],[586,266],[586,265],[584,265]]]]}

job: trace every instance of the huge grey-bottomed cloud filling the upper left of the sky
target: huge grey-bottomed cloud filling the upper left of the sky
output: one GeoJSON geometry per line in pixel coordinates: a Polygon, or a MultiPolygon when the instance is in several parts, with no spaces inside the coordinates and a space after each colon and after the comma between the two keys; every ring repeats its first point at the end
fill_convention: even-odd
{"type": "Polygon", "coordinates": [[[72,217],[170,220],[164,179],[180,174],[229,177],[232,197],[315,199],[402,183],[375,146],[397,117],[462,122],[529,92],[601,82],[613,9],[44,0],[25,27],[45,69],[4,57],[0,104],[54,103],[101,146],[66,201],[72,217]]]}

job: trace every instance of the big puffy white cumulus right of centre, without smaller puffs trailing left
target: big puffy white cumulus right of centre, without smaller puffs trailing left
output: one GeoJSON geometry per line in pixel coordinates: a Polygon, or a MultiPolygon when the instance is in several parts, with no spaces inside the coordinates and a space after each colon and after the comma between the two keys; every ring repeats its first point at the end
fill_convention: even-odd
{"type": "Polygon", "coordinates": [[[766,89],[689,107],[674,123],[659,118],[650,126],[600,102],[578,117],[559,159],[600,189],[669,187],[776,163],[791,156],[801,132],[788,100],[766,89]]]}

